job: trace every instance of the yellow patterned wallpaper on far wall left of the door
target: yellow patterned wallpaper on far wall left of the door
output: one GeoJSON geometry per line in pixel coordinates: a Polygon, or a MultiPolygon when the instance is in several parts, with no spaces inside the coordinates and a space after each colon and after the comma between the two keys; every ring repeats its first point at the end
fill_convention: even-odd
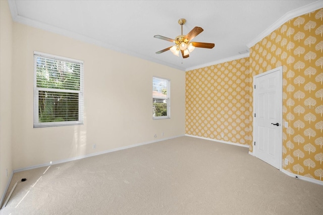
{"type": "Polygon", "coordinates": [[[249,58],[186,72],[186,134],[251,145],[249,58]]]}

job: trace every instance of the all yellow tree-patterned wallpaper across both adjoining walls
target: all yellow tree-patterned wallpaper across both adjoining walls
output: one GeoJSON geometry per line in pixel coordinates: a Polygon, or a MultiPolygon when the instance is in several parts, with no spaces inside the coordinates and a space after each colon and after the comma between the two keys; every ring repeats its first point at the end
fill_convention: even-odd
{"type": "Polygon", "coordinates": [[[186,134],[252,152],[253,76],[283,65],[283,169],[323,181],[322,17],[319,9],[289,20],[252,46],[249,58],[187,71],[186,134]]]}

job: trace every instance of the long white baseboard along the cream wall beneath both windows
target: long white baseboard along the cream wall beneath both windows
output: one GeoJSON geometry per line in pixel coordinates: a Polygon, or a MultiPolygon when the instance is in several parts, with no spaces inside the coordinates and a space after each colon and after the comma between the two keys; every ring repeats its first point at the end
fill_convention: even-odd
{"type": "Polygon", "coordinates": [[[53,162],[50,162],[50,163],[39,164],[39,165],[35,165],[35,166],[30,166],[30,167],[24,167],[24,168],[14,170],[13,173],[22,172],[22,171],[26,171],[26,170],[32,170],[32,169],[36,169],[36,168],[40,168],[40,167],[48,167],[50,165],[62,164],[62,163],[70,162],[70,161],[76,161],[76,160],[80,160],[80,159],[83,159],[83,158],[89,158],[89,157],[102,155],[102,154],[106,154],[106,153],[110,153],[110,152],[116,152],[116,151],[119,151],[119,150],[130,149],[130,148],[133,148],[133,147],[138,147],[138,146],[142,146],[142,145],[146,145],[146,144],[153,144],[154,142],[159,142],[159,141],[163,141],[163,140],[167,140],[167,139],[173,139],[173,138],[180,137],[180,136],[184,136],[184,135],[161,138],[161,139],[151,140],[151,141],[147,141],[147,142],[141,142],[140,144],[134,144],[134,145],[126,146],[126,147],[120,147],[120,148],[117,148],[117,149],[106,150],[106,151],[102,151],[102,152],[92,153],[92,154],[88,154],[88,155],[82,155],[82,156],[68,158],[68,159],[64,159],[64,160],[60,160],[60,161],[53,161],[53,162]]]}

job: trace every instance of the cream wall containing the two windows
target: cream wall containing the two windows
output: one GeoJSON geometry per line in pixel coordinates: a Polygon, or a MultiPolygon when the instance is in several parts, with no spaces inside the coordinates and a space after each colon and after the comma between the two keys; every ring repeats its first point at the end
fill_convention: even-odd
{"type": "Polygon", "coordinates": [[[13,34],[14,170],[185,134],[184,71],[19,23],[13,34]],[[84,125],[33,128],[33,51],[84,61],[84,125]],[[171,119],[152,120],[153,76],[171,80],[171,119]]]}

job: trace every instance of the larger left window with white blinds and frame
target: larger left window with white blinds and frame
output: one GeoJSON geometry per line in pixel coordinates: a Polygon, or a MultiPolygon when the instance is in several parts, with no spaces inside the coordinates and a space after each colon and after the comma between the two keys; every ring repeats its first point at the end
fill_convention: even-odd
{"type": "Polygon", "coordinates": [[[34,52],[34,127],[83,124],[83,61],[34,52]]]}

